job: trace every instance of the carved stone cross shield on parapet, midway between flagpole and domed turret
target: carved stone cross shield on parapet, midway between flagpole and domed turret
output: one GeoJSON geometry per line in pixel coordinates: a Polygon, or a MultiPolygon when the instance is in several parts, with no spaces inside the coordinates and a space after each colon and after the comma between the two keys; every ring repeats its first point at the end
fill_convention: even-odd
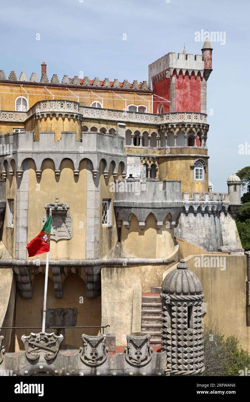
{"type": "Polygon", "coordinates": [[[90,366],[97,366],[106,361],[108,347],[105,346],[106,335],[88,336],[82,334],[83,346],[80,347],[80,359],[83,363],[90,366]]]}

